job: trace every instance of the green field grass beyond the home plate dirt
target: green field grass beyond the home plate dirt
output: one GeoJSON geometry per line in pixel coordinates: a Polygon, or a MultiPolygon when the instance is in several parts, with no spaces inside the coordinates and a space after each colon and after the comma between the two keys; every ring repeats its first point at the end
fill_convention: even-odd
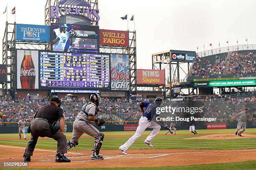
{"type": "MultiPolygon", "coordinates": [[[[161,130],[159,134],[164,134],[166,131],[161,130]]],[[[103,141],[103,150],[115,150],[120,145],[126,142],[134,131],[123,132],[103,132],[105,139],[103,141]],[[128,135],[128,136],[120,136],[128,135]]],[[[150,134],[151,131],[145,131],[143,135],[150,134]]],[[[234,129],[220,129],[220,130],[197,130],[198,135],[208,135],[208,133],[234,133],[234,129]]],[[[246,133],[256,135],[256,129],[246,129],[246,133]]],[[[181,140],[183,138],[192,138],[195,135],[189,134],[188,130],[179,130],[177,134],[187,135],[157,135],[152,144],[154,149],[214,149],[214,150],[235,150],[235,149],[250,149],[256,148],[255,138],[241,138],[233,140],[181,140]]],[[[67,140],[70,140],[72,133],[67,133],[67,140]]],[[[27,137],[30,135],[27,134],[27,137]]],[[[145,136],[140,137],[130,149],[150,149],[143,143],[145,136]]],[[[71,150],[91,150],[93,147],[93,138],[80,138],[77,148],[71,150]]],[[[28,140],[19,140],[18,134],[0,134],[0,145],[15,145],[26,147],[28,140]],[[17,140],[1,140],[1,138],[17,138],[17,140]]],[[[56,149],[56,141],[46,138],[38,140],[36,148],[56,149]]]]}

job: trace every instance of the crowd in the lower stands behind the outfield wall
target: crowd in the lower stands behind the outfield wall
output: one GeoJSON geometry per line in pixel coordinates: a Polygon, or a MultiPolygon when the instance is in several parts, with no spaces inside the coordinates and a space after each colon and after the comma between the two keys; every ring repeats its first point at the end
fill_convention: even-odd
{"type": "MultiPolygon", "coordinates": [[[[243,93],[242,93],[243,94],[243,93]]],[[[200,101],[205,107],[205,117],[230,118],[241,110],[242,107],[255,107],[256,91],[247,92],[245,96],[238,95],[211,95],[192,97],[188,101],[200,101]]],[[[87,99],[80,98],[61,98],[64,117],[67,122],[74,121],[79,113],[82,105],[88,102],[87,99]]],[[[186,101],[186,100],[184,100],[186,101]]],[[[169,101],[163,102],[163,106],[181,104],[184,101],[169,101]]],[[[4,97],[0,99],[0,125],[1,122],[18,122],[22,116],[26,117],[26,121],[33,120],[33,115],[42,106],[46,105],[47,100],[6,100],[4,97]]],[[[255,110],[256,111],[256,110],[255,110]]],[[[137,102],[127,102],[126,100],[107,101],[102,100],[100,103],[100,112],[98,118],[114,121],[119,117],[119,120],[134,121],[139,120],[142,113],[137,105],[137,102]]],[[[119,122],[111,122],[110,124],[119,124],[119,122]]],[[[3,125],[3,124],[2,124],[3,125]]]]}

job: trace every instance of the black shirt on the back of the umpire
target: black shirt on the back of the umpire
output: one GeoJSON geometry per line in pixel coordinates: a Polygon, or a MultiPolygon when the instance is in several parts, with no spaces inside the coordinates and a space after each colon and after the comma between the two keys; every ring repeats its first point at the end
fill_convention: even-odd
{"type": "Polygon", "coordinates": [[[64,118],[64,116],[60,107],[50,103],[41,107],[34,115],[34,118],[45,118],[50,124],[55,125],[56,122],[61,118],[64,118]]]}

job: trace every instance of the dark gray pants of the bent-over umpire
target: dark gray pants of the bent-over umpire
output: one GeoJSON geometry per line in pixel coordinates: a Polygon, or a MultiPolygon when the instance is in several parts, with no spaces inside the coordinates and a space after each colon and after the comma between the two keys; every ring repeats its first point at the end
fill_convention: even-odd
{"type": "Polygon", "coordinates": [[[48,137],[53,138],[58,142],[57,144],[57,154],[64,154],[67,153],[67,138],[63,133],[60,131],[56,132],[55,134],[51,134],[51,128],[48,122],[44,120],[34,120],[31,123],[31,138],[28,141],[27,148],[25,150],[24,155],[32,156],[33,151],[36,147],[36,143],[38,138],[40,137],[48,137]]]}

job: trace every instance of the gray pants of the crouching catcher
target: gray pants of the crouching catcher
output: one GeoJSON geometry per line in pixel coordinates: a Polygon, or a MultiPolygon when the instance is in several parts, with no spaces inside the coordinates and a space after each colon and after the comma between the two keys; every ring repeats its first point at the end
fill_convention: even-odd
{"type": "Polygon", "coordinates": [[[90,123],[76,119],[73,124],[72,138],[70,141],[72,143],[77,142],[84,133],[96,138],[100,134],[100,131],[90,123]]]}

